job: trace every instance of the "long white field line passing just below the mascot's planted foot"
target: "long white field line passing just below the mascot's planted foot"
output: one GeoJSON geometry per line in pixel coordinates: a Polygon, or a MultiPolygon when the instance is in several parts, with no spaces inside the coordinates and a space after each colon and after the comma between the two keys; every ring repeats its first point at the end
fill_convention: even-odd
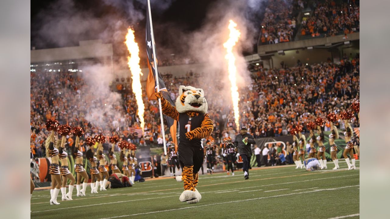
{"type": "MultiPolygon", "coordinates": [[[[338,188],[333,188],[333,189],[344,189],[344,188],[347,188],[347,187],[355,187],[355,186],[359,186],[359,185],[349,185],[349,186],[338,187],[338,188]]],[[[204,206],[210,206],[210,205],[222,205],[222,204],[227,204],[227,203],[235,203],[235,202],[241,202],[241,201],[252,201],[252,200],[259,200],[259,199],[264,199],[264,198],[275,198],[275,197],[290,196],[290,195],[296,195],[296,194],[315,193],[315,192],[325,191],[325,190],[327,190],[327,189],[323,189],[323,190],[318,189],[318,190],[314,190],[314,191],[307,191],[307,192],[300,192],[300,193],[281,194],[281,195],[276,195],[276,196],[267,196],[267,197],[260,197],[260,198],[251,198],[251,199],[238,200],[238,201],[227,201],[227,202],[213,203],[213,204],[207,204],[207,205],[193,205],[193,206],[184,207],[184,208],[174,208],[174,209],[161,210],[161,211],[154,211],[154,212],[145,212],[145,213],[121,215],[121,216],[106,217],[106,218],[101,218],[101,219],[112,219],[112,218],[118,218],[118,217],[129,217],[129,216],[135,216],[135,215],[141,215],[141,214],[154,214],[154,213],[160,213],[160,212],[168,212],[168,211],[174,211],[174,210],[183,210],[183,209],[188,209],[188,208],[197,208],[197,207],[204,207],[204,206]]],[[[34,213],[34,212],[33,212],[33,213],[34,213]]]]}

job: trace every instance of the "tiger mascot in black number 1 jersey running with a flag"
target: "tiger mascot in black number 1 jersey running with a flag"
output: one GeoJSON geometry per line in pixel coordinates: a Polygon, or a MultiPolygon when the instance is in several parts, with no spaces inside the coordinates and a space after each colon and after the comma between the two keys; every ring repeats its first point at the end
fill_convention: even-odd
{"type": "Polygon", "coordinates": [[[184,191],[179,200],[197,203],[202,196],[195,188],[198,184],[198,172],[203,165],[204,151],[202,138],[211,134],[213,121],[207,112],[207,101],[200,88],[180,86],[176,107],[163,98],[161,92],[155,93],[161,99],[161,109],[165,115],[179,123],[178,155],[182,168],[184,191]]]}

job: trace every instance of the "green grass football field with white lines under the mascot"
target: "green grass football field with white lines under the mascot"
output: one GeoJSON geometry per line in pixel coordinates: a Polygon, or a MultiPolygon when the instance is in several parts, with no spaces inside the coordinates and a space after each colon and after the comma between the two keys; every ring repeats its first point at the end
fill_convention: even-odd
{"type": "MultiPolygon", "coordinates": [[[[179,201],[183,182],[173,178],[147,180],[133,187],[99,191],[57,200],[50,205],[50,192],[34,191],[31,218],[347,218],[359,217],[360,170],[347,170],[341,162],[335,171],[308,172],[295,165],[250,170],[244,180],[242,170],[236,175],[217,173],[200,175],[197,189],[202,200],[197,204],[179,201]]],[[[359,167],[359,162],[356,162],[359,167]]]]}

